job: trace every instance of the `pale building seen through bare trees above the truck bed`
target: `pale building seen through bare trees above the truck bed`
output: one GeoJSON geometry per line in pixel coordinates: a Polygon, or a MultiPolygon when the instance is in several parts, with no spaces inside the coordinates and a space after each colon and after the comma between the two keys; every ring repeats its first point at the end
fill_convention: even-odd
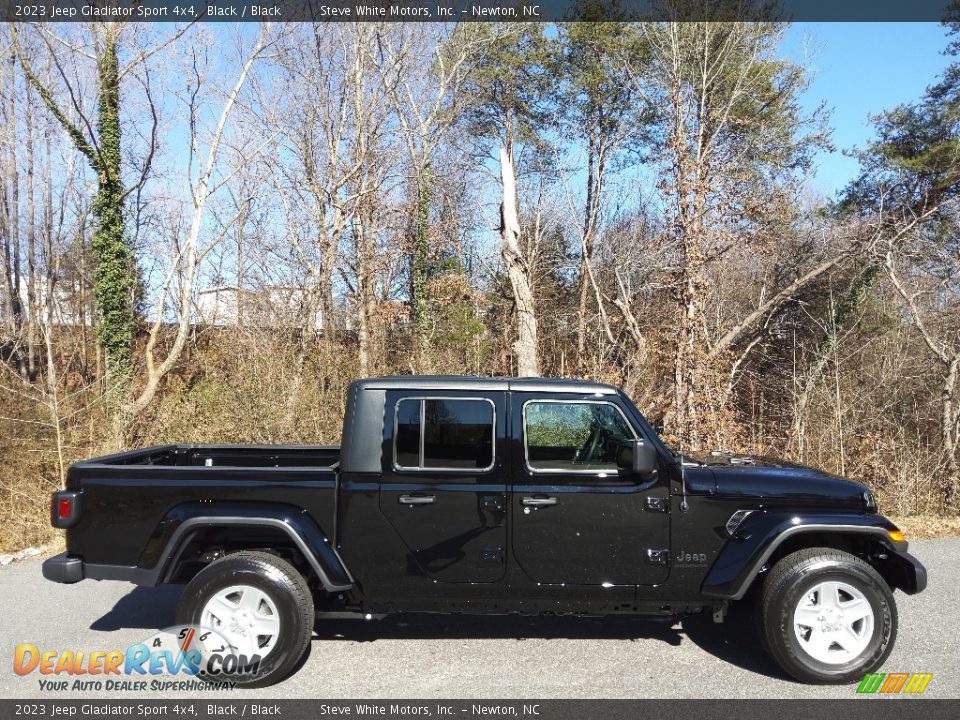
{"type": "MultiPolygon", "coordinates": [[[[197,291],[195,320],[203,325],[229,327],[297,327],[303,317],[307,294],[303,288],[270,285],[260,290],[218,285],[197,291]]],[[[323,329],[323,314],[318,310],[314,332],[323,329]]]]}

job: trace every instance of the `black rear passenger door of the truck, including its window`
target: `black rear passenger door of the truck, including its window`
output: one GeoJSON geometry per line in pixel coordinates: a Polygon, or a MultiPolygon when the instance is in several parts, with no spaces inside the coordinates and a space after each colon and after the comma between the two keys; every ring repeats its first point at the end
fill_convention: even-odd
{"type": "Polygon", "coordinates": [[[506,393],[388,393],[380,512],[410,570],[495,582],[506,560],[506,393]]]}

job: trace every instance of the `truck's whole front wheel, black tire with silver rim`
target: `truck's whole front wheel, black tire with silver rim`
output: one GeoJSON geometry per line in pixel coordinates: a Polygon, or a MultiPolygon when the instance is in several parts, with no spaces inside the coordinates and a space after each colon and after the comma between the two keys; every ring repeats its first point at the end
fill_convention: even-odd
{"type": "Polygon", "coordinates": [[[767,651],[797,680],[855,682],[880,667],[897,637],[897,606],[868,563],[831,548],[780,560],[763,585],[760,632],[767,651]]]}

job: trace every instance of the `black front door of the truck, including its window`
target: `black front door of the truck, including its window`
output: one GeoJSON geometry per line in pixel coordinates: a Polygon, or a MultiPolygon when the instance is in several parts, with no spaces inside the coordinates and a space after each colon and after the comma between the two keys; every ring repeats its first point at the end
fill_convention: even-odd
{"type": "Polygon", "coordinates": [[[513,395],[513,553],[538,583],[653,585],[669,573],[664,473],[632,471],[617,398],[513,395]]]}

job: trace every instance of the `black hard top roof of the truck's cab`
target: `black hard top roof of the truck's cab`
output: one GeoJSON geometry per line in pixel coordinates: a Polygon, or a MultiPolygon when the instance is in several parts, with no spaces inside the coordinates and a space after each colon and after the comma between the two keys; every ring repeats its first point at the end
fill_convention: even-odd
{"type": "Polygon", "coordinates": [[[394,375],[357,380],[361,390],[516,390],[518,392],[615,395],[606,383],[570,378],[476,377],[473,375],[394,375]]]}

